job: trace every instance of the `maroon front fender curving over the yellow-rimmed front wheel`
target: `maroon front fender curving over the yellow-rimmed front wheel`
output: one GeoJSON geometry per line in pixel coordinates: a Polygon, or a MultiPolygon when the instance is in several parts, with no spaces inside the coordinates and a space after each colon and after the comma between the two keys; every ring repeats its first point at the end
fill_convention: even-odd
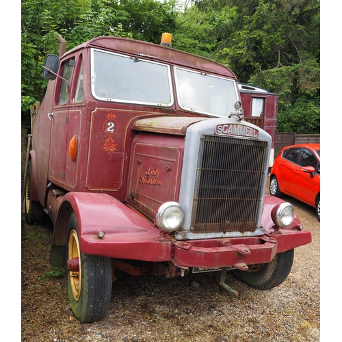
{"type": "Polygon", "coordinates": [[[66,201],[77,218],[81,252],[117,259],[170,260],[171,241],[161,239],[159,229],[116,198],[69,192],[66,201]],[[98,231],[105,236],[99,238],[98,231]]]}

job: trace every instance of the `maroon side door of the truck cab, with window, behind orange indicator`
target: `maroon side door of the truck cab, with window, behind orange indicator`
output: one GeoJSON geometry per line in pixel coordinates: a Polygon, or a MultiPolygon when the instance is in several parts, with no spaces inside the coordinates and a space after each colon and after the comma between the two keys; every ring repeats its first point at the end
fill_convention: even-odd
{"type": "Polygon", "coordinates": [[[61,187],[71,187],[72,189],[76,186],[77,163],[70,159],[68,146],[74,135],[76,135],[76,140],[79,137],[81,122],[81,115],[70,108],[73,101],[71,98],[73,80],[79,77],[77,71],[79,71],[80,66],[77,68],[77,62],[81,63],[77,57],[78,55],[68,57],[60,66],[59,75],[61,77],[58,77],[56,83],[53,111],[49,114],[52,121],[49,181],[61,187]]]}

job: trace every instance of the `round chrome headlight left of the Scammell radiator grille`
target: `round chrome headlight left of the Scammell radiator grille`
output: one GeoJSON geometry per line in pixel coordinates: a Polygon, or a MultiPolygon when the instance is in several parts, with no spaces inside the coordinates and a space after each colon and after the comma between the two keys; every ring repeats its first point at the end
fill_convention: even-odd
{"type": "Polygon", "coordinates": [[[155,213],[155,222],[162,231],[176,231],[183,223],[184,211],[177,202],[165,202],[155,213]]]}

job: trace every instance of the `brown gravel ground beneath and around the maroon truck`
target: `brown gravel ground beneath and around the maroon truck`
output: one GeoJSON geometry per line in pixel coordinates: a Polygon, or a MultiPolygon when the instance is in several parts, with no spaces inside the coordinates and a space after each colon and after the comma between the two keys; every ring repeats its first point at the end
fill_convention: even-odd
{"type": "Polygon", "coordinates": [[[22,341],[320,341],[320,224],[315,209],[284,199],[313,242],[295,249],[279,287],[259,291],[228,273],[236,297],[218,286],[220,272],[175,279],[118,273],[107,317],[92,324],[75,319],[66,275],[49,264],[52,227],[25,226],[22,341]]]}

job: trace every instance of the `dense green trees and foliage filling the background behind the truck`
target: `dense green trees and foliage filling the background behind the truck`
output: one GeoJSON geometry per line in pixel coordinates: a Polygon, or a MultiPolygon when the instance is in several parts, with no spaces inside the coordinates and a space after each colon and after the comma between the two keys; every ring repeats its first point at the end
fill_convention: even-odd
{"type": "Polygon", "coordinates": [[[319,133],[317,0],[22,0],[22,118],[41,101],[48,53],[95,36],[124,36],[217,60],[237,79],[279,94],[277,131],[319,133]]]}

